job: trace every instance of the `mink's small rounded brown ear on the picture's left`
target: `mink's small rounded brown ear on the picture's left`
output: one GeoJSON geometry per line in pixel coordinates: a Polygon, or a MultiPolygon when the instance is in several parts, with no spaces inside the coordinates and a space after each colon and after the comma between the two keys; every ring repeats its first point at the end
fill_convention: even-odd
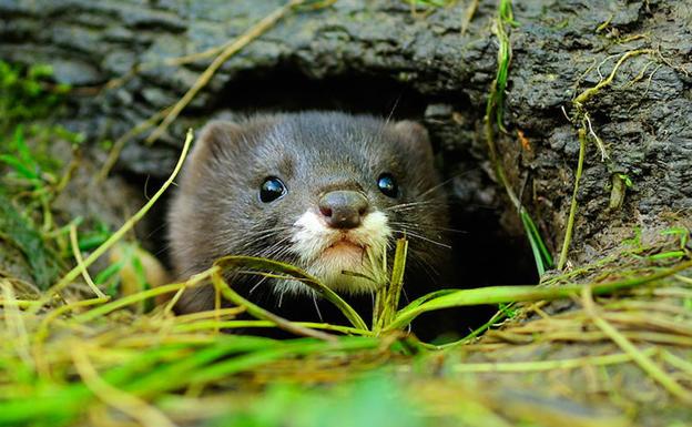
{"type": "Polygon", "coordinates": [[[208,163],[233,155],[243,141],[243,128],[225,121],[212,121],[200,132],[190,154],[192,163],[208,163]]]}

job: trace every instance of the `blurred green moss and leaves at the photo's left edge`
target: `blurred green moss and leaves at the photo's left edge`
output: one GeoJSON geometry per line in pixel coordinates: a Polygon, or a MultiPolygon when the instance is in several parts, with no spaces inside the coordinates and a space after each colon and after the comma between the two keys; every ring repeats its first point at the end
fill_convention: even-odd
{"type": "Polygon", "coordinates": [[[83,140],[53,123],[70,88],[51,75],[49,65],[0,61],[0,243],[22,253],[39,288],[60,272],[50,204],[64,187],[64,165],[50,149],[83,140]]]}

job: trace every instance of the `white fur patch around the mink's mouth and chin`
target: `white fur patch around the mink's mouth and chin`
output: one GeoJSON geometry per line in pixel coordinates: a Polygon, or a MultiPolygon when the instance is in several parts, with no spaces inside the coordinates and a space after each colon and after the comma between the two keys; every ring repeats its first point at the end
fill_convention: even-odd
{"type": "MultiPolygon", "coordinates": [[[[309,274],[330,289],[347,294],[372,293],[383,285],[383,256],[391,236],[387,222],[384,213],[372,212],[359,226],[336,230],[327,226],[317,213],[307,211],[293,225],[291,252],[299,257],[301,265],[309,274]]],[[[312,293],[298,281],[278,281],[276,291],[312,293]]]]}

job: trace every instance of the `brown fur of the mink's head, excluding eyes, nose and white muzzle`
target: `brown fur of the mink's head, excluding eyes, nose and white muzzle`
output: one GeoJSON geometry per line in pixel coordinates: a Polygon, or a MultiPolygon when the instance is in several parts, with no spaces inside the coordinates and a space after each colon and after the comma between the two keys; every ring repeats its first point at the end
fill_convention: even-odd
{"type": "MultiPolygon", "coordinates": [[[[410,121],[305,112],[257,115],[237,124],[212,122],[186,161],[169,214],[176,275],[186,278],[227,254],[295,264],[285,251],[291,225],[333,189],[363,192],[374,209],[387,214],[395,237],[408,232],[407,277],[434,275],[445,257],[430,242],[445,241],[447,206],[432,163],[426,130],[410,121]],[[397,200],[378,191],[381,173],[397,179],[397,200]],[[288,187],[285,197],[260,201],[266,176],[282,177],[288,187]]],[[[255,301],[279,297],[271,281],[251,293],[256,278],[230,278],[255,301]]],[[[212,307],[213,292],[202,286],[186,292],[177,309],[212,307]]]]}

